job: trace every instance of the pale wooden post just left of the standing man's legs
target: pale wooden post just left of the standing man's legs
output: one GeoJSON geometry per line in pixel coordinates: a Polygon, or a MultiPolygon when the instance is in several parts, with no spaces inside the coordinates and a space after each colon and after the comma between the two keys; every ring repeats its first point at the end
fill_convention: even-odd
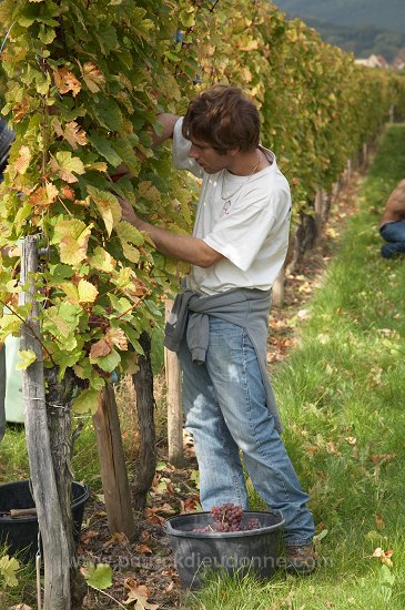
{"type": "MultiPolygon", "coordinates": [[[[169,318],[173,302],[165,302],[165,317],[169,318]]],[[[183,457],[183,411],[181,399],[181,370],[178,355],[164,348],[164,370],[168,395],[168,445],[169,461],[181,466],[183,457]]]]}

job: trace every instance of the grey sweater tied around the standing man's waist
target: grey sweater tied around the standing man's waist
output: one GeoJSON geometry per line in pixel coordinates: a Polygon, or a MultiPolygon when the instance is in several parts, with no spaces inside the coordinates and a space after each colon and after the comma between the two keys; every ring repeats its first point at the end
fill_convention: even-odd
{"type": "Polygon", "coordinates": [[[241,326],[255,349],[266,405],[274,417],[276,430],[281,433],[282,424],[266,370],[270,305],[271,291],[232,288],[215,295],[201,295],[185,289],[175,297],[165,328],[164,345],[171,352],[179,352],[185,337],[193,362],[203,364],[210,338],[209,316],[241,326]]]}

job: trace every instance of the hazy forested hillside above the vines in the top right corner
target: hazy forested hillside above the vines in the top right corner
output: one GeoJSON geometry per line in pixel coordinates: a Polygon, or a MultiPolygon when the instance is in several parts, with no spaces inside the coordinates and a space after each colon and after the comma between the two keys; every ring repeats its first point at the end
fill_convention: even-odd
{"type": "Polygon", "coordinates": [[[275,0],[288,17],[300,17],[323,40],[356,58],[384,55],[392,62],[405,48],[405,0],[275,0]]]}

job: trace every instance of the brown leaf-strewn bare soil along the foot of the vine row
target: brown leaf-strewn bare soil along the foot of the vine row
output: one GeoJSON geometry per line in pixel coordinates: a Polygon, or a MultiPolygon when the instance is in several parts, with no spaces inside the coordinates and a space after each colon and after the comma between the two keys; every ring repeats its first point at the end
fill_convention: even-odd
{"type": "MultiPolygon", "coordinates": [[[[300,268],[286,276],[285,305],[282,308],[273,307],[271,312],[267,350],[270,370],[272,363],[283,360],[296,343],[300,321],[308,315],[305,305],[320,285],[345,220],[355,212],[358,180],[360,175],[353,174],[332,204],[322,240],[313,251],[306,253],[300,268]]],[[[184,468],[176,469],[165,462],[164,439],[159,443],[159,454],[161,461],[149,507],[136,519],[136,532],[132,541],[123,535],[109,533],[105,508],[98,498],[92,498],[87,506],[80,559],[83,562],[108,563],[113,569],[112,587],[104,592],[91,589],[85,598],[87,610],[185,609],[184,593],[164,533],[164,522],[171,515],[198,508],[198,467],[192,440],[188,437],[184,438],[184,468]]]]}

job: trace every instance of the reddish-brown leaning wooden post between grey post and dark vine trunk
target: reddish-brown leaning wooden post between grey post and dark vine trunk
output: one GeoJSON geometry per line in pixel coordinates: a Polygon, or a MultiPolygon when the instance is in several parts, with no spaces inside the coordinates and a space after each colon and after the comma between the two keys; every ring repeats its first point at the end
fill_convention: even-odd
{"type": "Polygon", "coordinates": [[[114,389],[105,384],[93,415],[107,519],[111,533],[122,531],[131,539],[134,530],[130,485],[122,447],[114,389]]]}

